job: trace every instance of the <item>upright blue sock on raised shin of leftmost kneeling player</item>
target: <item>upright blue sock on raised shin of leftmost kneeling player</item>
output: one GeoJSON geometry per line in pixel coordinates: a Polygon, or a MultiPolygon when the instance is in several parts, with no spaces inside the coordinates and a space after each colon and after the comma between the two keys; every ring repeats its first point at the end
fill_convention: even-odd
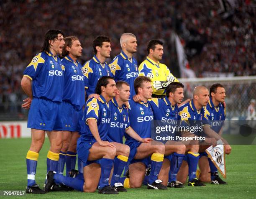
{"type": "Polygon", "coordinates": [[[105,186],[108,186],[108,180],[110,176],[111,169],[113,167],[114,160],[108,159],[108,158],[102,158],[100,161],[100,167],[101,167],[101,176],[100,176],[100,182],[99,182],[99,189],[104,188],[105,186]]]}

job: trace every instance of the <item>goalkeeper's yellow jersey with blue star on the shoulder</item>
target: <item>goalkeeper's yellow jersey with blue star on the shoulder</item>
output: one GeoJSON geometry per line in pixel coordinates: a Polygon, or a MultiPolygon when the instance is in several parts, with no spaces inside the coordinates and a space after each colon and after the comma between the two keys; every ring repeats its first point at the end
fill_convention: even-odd
{"type": "MultiPolygon", "coordinates": [[[[167,81],[167,76],[172,76],[174,75],[170,72],[168,67],[165,64],[161,64],[159,61],[154,62],[152,59],[150,59],[148,56],[146,60],[144,60],[139,68],[139,76],[146,76],[149,77],[152,81],[152,84],[154,81],[167,81]]],[[[176,77],[174,77],[173,82],[179,82],[176,77]]],[[[153,86],[153,94],[156,95],[165,95],[166,89],[161,89],[161,90],[156,90],[153,86]]]]}

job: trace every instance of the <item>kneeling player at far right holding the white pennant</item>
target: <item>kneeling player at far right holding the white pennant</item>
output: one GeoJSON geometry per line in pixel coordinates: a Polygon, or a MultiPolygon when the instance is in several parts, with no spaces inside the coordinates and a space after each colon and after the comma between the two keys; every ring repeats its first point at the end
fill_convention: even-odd
{"type": "MultiPolygon", "coordinates": [[[[229,154],[231,152],[231,147],[228,142],[221,137],[223,124],[226,117],[226,110],[223,106],[226,94],[223,85],[213,84],[210,87],[210,96],[211,97],[207,106],[204,107],[205,118],[207,120],[207,124],[204,125],[204,132],[209,138],[214,138],[216,141],[222,139],[223,143],[225,144],[225,153],[229,154]]],[[[218,169],[212,163],[210,158],[207,158],[205,149],[208,147],[209,145],[200,145],[200,151],[202,151],[199,159],[200,181],[211,182],[212,184],[227,184],[225,181],[220,179],[218,169]]]]}

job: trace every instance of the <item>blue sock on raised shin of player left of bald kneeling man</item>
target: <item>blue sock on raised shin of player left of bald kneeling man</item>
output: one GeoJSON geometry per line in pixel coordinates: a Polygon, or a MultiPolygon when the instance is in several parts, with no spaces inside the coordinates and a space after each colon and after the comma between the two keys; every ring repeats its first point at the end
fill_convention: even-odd
{"type": "Polygon", "coordinates": [[[170,160],[170,171],[169,171],[169,182],[176,181],[177,173],[179,172],[179,168],[182,165],[182,161],[184,158],[184,154],[173,153],[172,158],[170,160]]]}

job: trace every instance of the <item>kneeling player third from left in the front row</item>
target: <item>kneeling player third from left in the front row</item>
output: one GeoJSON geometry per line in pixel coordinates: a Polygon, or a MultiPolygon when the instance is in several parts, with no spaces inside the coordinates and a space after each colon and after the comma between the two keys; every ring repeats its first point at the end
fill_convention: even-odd
{"type": "MultiPolygon", "coordinates": [[[[151,137],[151,122],[153,122],[153,112],[148,105],[148,99],[151,99],[152,86],[148,77],[137,77],[134,81],[136,94],[140,95],[142,102],[129,100],[129,118],[131,127],[140,135],[141,138],[151,137]]],[[[139,188],[142,185],[146,167],[151,163],[151,173],[148,180],[148,189],[167,189],[157,179],[164,160],[164,145],[152,140],[150,143],[140,143],[129,135],[125,135],[130,149],[129,176],[130,178],[121,178],[125,188],[139,188]],[[148,158],[151,157],[151,161],[148,158]]]]}

